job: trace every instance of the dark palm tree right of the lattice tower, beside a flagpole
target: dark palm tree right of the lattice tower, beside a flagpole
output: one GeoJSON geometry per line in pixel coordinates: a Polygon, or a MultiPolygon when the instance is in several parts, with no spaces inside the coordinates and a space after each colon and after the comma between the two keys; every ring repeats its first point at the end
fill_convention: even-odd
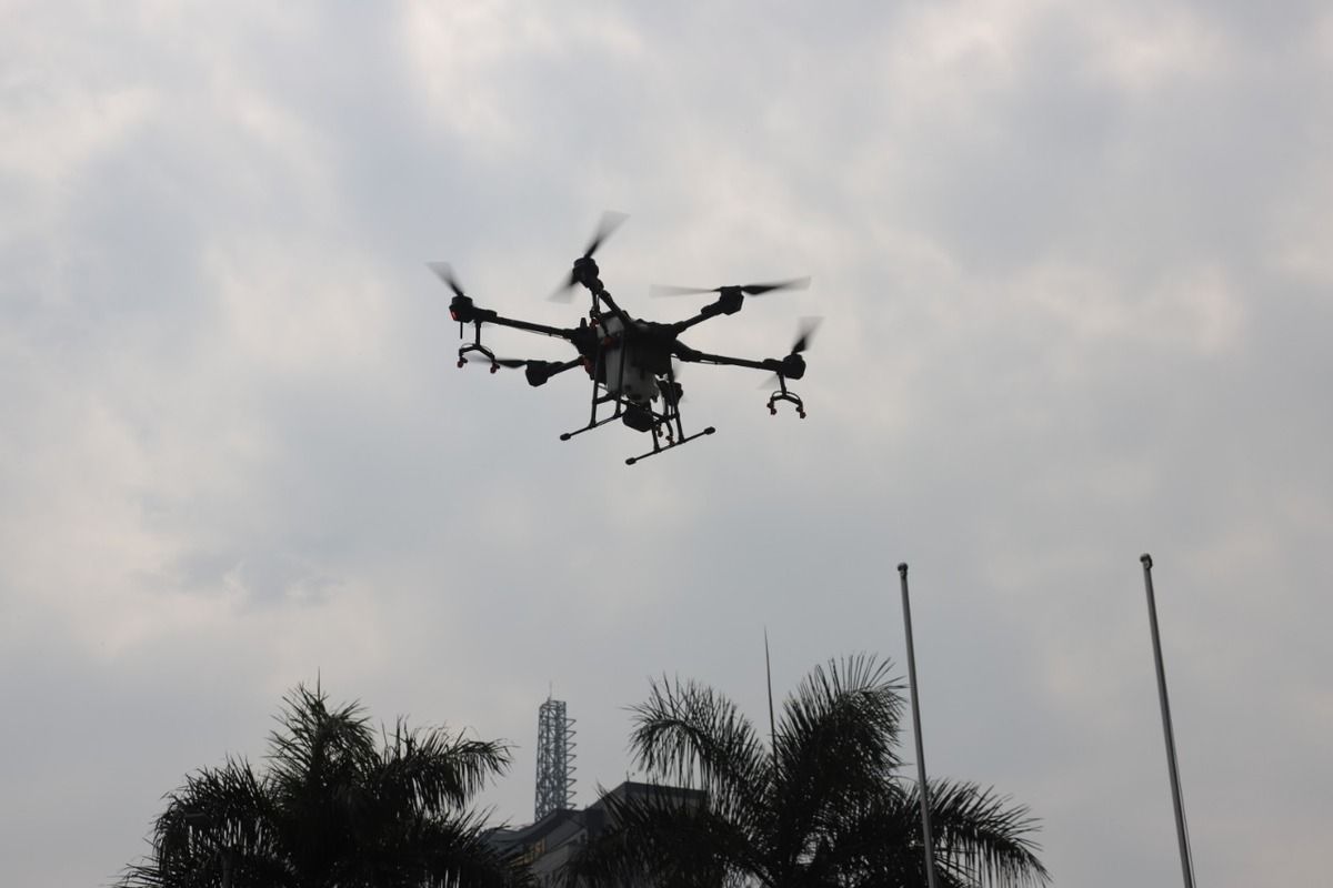
{"type": "MultiPolygon", "coordinates": [[[[816,667],[769,744],[712,688],[653,682],[632,710],[631,748],[655,781],[701,800],[608,797],[611,825],[567,883],[924,888],[920,796],[894,774],[902,696],[888,668],[868,656],[816,667]]],[[[929,795],[941,885],[1046,883],[1025,807],[970,783],[933,781],[929,795]]]]}

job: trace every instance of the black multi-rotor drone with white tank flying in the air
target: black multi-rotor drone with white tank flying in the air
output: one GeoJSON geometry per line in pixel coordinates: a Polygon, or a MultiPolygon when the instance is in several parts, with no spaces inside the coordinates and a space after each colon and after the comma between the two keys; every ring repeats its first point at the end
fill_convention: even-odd
{"type": "MultiPolygon", "coordinates": [[[[592,431],[609,422],[620,419],[635,431],[652,435],[652,450],[625,459],[633,466],[640,459],[673,450],[704,435],[717,431],[708,426],[694,434],[685,434],[681,425],[680,405],[684,397],[678,374],[678,363],[713,363],[762,370],[776,378],[777,389],[768,398],[768,410],[777,414],[780,402],[790,403],[801,419],[805,418],[805,403],[800,395],[788,387],[789,379],[805,375],[805,358],[801,353],[810,343],[817,326],[816,318],[806,318],[797,330],[790,350],[780,358],[736,358],[725,354],[708,354],[681,342],[680,335],[709,318],[720,314],[736,314],[745,304],[745,297],[762,296],[776,290],[794,290],[809,286],[810,278],[793,278],[769,284],[744,284],[717,288],[655,286],[653,296],[704,296],[716,293],[717,298],[698,310],[690,318],[673,324],[660,324],[635,318],[612,298],[601,282],[600,270],[593,254],[607,238],[625,221],[623,213],[605,213],[583,256],[575,260],[569,277],[552,294],[552,300],[568,302],[573,290],[581,285],[588,290],[592,305],[587,317],[579,320],[579,326],[557,328],[533,324],[517,318],[503,317],[492,309],[479,306],[464,292],[453,269],[447,262],[429,262],[428,268],[453,292],[449,301],[449,317],[459,324],[459,367],[471,362],[489,365],[491,373],[501,369],[523,369],[528,383],[545,385],[552,377],[581,367],[592,381],[592,407],[588,423],[560,435],[569,441],[575,435],[592,431]],[[481,330],[487,325],[513,328],[569,342],[579,353],[569,361],[537,361],[500,358],[481,342],[481,330]],[[467,341],[467,328],[472,325],[472,341],[467,341]]],[[[766,387],[766,386],[765,386],[766,387]]]]}

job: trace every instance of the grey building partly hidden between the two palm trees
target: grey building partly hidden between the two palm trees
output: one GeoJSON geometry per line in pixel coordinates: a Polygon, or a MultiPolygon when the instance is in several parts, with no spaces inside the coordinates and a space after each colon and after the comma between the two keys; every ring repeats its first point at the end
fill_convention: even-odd
{"type": "Polygon", "coordinates": [[[492,829],[488,839],[501,851],[516,855],[520,861],[531,867],[537,884],[556,885],[560,871],[571,857],[589,841],[595,841],[603,831],[616,825],[615,812],[607,804],[608,799],[628,801],[647,797],[685,805],[702,804],[704,793],[698,789],[627,780],[583,811],[560,808],[527,827],[492,829]]]}

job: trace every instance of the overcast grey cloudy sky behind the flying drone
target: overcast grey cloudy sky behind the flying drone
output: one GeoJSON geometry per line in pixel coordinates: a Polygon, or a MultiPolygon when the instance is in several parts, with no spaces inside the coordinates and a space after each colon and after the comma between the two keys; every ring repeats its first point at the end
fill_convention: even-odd
{"type": "Polygon", "coordinates": [[[0,1],[7,884],[112,881],[316,678],[516,743],[516,823],[553,688],[588,804],[652,675],[762,720],[765,627],[778,692],[905,675],[900,560],[932,774],[1173,884],[1144,551],[1200,884],[1326,881],[1326,4],[680,5],[0,1]],[[573,325],[605,209],[636,314],[813,277],[689,338],[824,316],[808,419],[690,366],[718,434],[628,469],[587,379],[455,367],[425,262],[573,325]]]}

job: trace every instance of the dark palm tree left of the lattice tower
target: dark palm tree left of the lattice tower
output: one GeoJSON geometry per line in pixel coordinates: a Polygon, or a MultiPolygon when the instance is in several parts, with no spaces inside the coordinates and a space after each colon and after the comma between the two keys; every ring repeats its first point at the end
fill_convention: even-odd
{"type": "Polygon", "coordinates": [[[264,772],[228,759],[167,796],[152,853],[121,888],[508,884],[467,808],[508,767],[508,746],[403,719],[377,738],[359,704],[332,708],[305,687],[279,724],[264,772]]]}

